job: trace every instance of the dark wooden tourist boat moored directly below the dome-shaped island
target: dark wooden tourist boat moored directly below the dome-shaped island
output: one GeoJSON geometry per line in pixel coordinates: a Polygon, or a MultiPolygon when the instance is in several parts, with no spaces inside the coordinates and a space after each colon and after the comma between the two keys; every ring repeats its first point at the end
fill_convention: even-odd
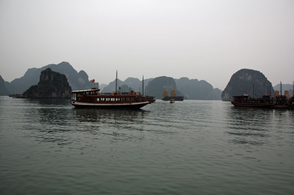
{"type": "Polygon", "coordinates": [[[235,107],[256,107],[256,108],[270,108],[271,98],[270,95],[266,94],[260,98],[251,98],[244,92],[244,95],[233,96],[231,103],[235,107]]]}

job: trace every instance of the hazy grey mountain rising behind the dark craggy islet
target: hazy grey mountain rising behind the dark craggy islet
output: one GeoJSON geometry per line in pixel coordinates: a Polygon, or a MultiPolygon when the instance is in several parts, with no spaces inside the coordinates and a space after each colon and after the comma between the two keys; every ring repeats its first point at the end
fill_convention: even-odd
{"type": "Polygon", "coordinates": [[[98,83],[91,83],[85,71],[77,72],[68,62],[62,62],[58,65],[50,64],[41,68],[29,68],[21,78],[14,79],[11,83],[5,83],[10,93],[22,94],[30,86],[39,82],[41,71],[50,68],[52,71],[64,74],[73,90],[83,90],[96,87],[98,83]]]}

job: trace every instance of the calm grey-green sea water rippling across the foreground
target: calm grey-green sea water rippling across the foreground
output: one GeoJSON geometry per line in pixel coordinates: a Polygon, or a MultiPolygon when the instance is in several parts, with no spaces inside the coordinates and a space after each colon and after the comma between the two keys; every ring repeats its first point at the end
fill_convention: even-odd
{"type": "Polygon", "coordinates": [[[0,97],[1,195],[290,195],[294,110],[0,97]]]}

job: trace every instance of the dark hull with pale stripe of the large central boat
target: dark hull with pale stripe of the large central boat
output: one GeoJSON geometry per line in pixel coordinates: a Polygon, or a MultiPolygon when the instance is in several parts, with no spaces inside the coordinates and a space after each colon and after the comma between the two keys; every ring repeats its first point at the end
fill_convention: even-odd
{"type": "Polygon", "coordinates": [[[131,109],[139,109],[150,102],[132,102],[132,103],[90,103],[90,102],[80,102],[71,100],[71,104],[75,108],[131,108],[131,109]]]}

